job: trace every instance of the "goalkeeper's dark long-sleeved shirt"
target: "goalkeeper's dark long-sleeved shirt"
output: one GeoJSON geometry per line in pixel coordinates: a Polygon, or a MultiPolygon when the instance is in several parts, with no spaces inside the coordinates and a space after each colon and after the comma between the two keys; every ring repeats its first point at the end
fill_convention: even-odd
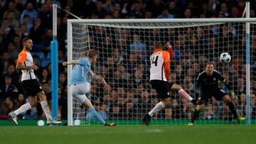
{"type": "Polygon", "coordinates": [[[212,75],[207,75],[206,71],[201,72],[197,78],[196,88],[201,94],[214,94],[219,89],[218,80],[223,82],[228,90],[231,90],[227,80],[217,70],[214,70],[212,75]]]}

